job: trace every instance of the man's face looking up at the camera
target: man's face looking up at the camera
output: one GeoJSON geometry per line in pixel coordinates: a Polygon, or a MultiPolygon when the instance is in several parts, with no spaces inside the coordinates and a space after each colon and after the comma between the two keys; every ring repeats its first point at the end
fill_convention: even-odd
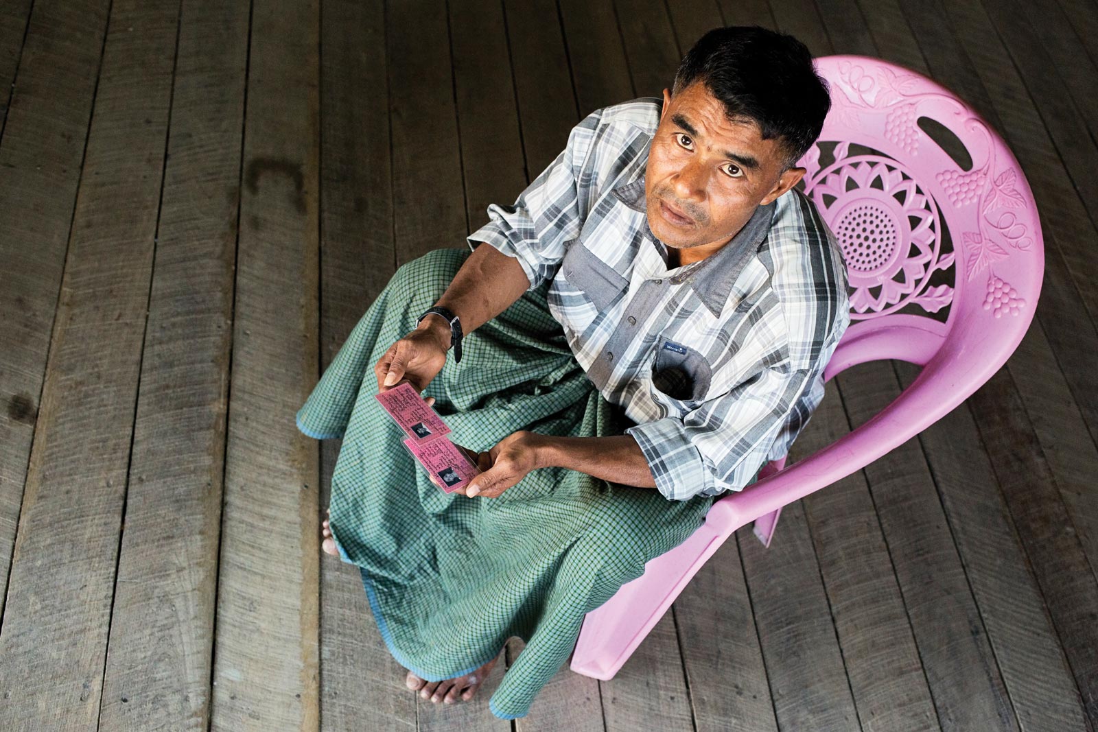
{"type": "Polygon", "coordinates": [[[674,99],[663,90],[660,125],[645,168],[645,199],[649,228],[680,250],[680,264],[720,249],[760,204],[800,180],[804,168],[782,171],[778,143],[763,139],[753,121],[729,121],[724,104],[702,82],[674,99]]]}

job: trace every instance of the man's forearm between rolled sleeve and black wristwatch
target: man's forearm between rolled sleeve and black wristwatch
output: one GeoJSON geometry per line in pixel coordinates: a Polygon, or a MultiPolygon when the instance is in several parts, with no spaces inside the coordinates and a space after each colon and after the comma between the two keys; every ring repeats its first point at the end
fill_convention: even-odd
{"type": "MultiPolygon", "coordinates": [[[[469,335],[511,307],[529,286],[530,282],[517,259],[481,243],[435,304],[457,315],[461,319],[462,335],[469,335]]],[[[419,327],[445,331],[445,342],[449,342],[450,329],[446,318],[427,317],[419,327]]]]}

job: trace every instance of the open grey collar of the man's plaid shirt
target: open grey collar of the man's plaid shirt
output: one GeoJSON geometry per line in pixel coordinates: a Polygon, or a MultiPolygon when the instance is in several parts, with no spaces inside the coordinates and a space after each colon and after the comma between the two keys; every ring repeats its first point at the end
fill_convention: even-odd
{"type": "MultiPolygon", "coordinates": [[[[645,169],[640,168],[637,180],[623,183],[614,189],[614,195],[625,205],[645,214],[642,225],[645,236],[656,244],[666,261],[666,247],[656,238],[648,226],[648,206],[645,201],[645,169]]],[[[755,207],[751,218],[731,240],[705,259],[679,267],[671,275],[672,284],[686,282],[698,294],[714,317],[720,317],[732,285],[740,272],[759,251],[760,245],[770,232],[775,202],[755,207]]]]}

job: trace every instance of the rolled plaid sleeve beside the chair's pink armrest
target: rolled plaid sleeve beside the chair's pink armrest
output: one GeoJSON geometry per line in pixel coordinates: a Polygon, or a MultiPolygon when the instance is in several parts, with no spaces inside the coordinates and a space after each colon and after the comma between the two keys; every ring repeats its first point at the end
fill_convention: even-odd
{"type": "Polygon", "coordinates": [[[815,380],[814,371],[789,369],[786,361],[682,417],[635,425],[625,433],[637,440],[657,489],[668,499],[741,491],[766,462],[789,418],[802,416],[804,395],[815,398],[815,380]]]}

